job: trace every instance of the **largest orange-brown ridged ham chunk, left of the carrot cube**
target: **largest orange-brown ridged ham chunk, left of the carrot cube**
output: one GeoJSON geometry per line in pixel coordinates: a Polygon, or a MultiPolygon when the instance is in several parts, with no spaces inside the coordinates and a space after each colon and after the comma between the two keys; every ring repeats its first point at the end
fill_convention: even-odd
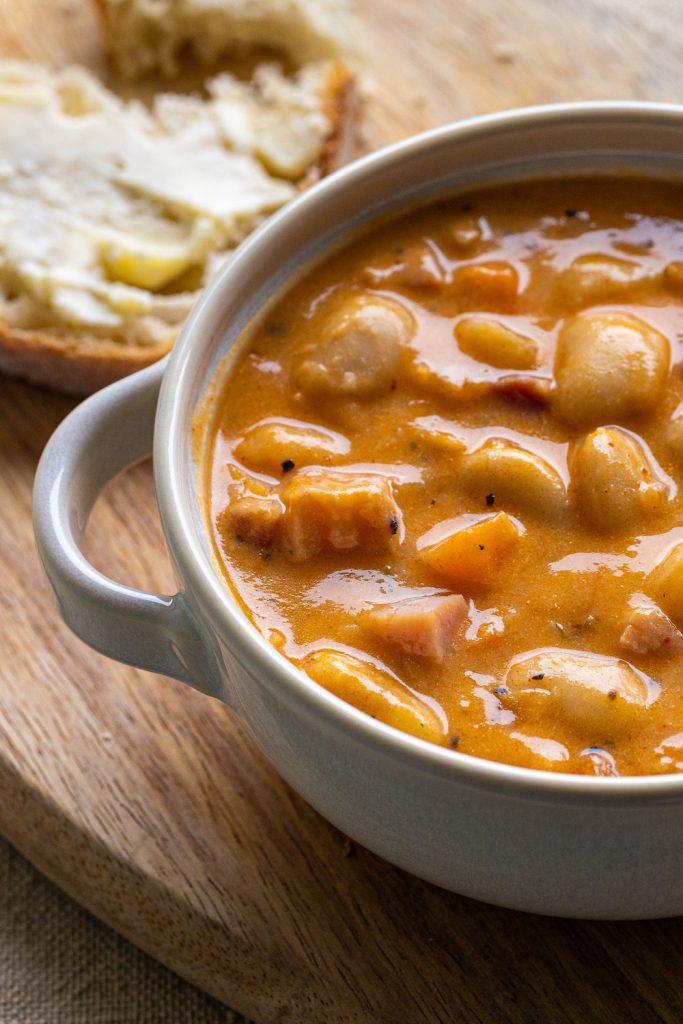
{"type": "Polygon", "coordinates": [[[297,561],[326,550],[386,552],[402,538],[391,481],[377,473],[303,470],[281,497],[283,544],[297,561]]]}

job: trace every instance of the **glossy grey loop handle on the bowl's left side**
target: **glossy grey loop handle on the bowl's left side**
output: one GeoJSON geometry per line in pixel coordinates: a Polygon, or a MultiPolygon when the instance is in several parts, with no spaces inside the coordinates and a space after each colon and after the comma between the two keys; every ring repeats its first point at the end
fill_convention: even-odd
{"type": "Polygon", "coordinates": [[[209,645],[183,594],[147,594],[98,572],[81,540],[98,494],[152,452],[166,359],[78,406],[50,438],[33,496],[36,544],[62,618],[95,650],[219,694],[209,645]]]}

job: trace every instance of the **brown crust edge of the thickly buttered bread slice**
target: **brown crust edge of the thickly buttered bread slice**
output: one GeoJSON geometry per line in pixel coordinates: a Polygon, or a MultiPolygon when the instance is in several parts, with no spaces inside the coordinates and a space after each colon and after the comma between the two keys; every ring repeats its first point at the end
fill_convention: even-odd
{"type": "MultiPolygon", "coordinates": [[[[352,75],[342,65],[335,63],[330,70],[324,104],[330,131],[317,164],[306,174],[301,187],[330,174],[349,159],[355,145],[355,109],[352,75]]],[[[179,330],[180,326],[170,341],[133,345],[80,332],[18,330],[0,319],[0,373],[62,394],[92,394],[166,355],[179,330]]]]}

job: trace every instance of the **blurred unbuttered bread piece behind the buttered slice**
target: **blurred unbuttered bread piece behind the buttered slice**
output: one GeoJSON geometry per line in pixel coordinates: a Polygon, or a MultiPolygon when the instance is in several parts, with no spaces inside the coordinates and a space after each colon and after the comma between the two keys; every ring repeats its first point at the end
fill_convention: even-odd
{"type": "Polygon", "coordinates": [[[295,65],[348,62],[357,32],[346,0],[99,0],[110,58],[125,79],[173,77],[188,55],[204,67],[254,47],[295,65]],[[132,42],[134,41],[134,42],[132,42]]]}

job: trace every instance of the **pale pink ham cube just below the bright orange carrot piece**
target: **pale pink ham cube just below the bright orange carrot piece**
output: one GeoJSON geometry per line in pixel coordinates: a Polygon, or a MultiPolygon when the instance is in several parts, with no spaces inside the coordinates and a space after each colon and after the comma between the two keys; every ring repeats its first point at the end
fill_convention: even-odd
{"type": "Polygon", "coordinates": [[[362,616],[362,625],[371,636],[404,654],[440,662],[466,613],[461,594],[430,594],[373,608],[362,616]]]}

